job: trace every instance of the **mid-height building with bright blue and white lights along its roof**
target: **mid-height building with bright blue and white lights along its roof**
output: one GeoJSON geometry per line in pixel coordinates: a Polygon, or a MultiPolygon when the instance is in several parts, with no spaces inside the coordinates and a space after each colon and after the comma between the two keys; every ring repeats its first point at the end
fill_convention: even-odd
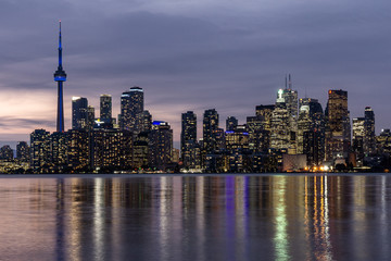
{"type": "Polygon", "coordinates": [[[173,157],[173,129],[167,122],[154,121],[149,135],[149,163],[159,171],[166,171],[173,157]]]}

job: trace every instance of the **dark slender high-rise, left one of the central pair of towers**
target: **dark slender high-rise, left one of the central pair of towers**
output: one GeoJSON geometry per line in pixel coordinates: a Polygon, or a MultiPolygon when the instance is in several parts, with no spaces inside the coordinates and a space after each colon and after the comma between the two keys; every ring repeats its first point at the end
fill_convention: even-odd
{"type": "Polygon", "coordinates": [[[181,114],[180,153],[185,167],[189,167],[194,159],[191,151],[197,148],[197,115],[192,111],[181,114]]]}

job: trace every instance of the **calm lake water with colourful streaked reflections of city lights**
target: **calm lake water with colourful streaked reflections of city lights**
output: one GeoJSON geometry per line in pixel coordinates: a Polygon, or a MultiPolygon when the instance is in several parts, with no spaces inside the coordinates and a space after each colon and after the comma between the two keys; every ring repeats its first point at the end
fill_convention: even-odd
{"type": "Polygon", "coordinates": [[[391,175],[0,176],[0,260],[391,260],[391,175]]]}

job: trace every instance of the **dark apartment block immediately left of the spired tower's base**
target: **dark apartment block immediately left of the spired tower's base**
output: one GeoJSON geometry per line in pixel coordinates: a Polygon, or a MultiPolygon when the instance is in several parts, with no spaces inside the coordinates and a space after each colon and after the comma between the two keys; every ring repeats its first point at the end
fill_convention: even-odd
{"type": "Polygon", "coordinates": [[[49,163],[50,133],[45,129],[35,129],[30,134],[30,167],[35,172],[43,172],[49,163]]]}

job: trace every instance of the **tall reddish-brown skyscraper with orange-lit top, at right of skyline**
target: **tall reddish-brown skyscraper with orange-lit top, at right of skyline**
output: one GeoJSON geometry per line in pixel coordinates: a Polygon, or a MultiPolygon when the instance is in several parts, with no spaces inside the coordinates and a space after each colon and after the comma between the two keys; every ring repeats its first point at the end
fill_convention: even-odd
{"type": "Polygon", "coordinates": [[[351,144],[348,91],[329,90],[326,108],[326,160],[348,159],[351,144]]]}

